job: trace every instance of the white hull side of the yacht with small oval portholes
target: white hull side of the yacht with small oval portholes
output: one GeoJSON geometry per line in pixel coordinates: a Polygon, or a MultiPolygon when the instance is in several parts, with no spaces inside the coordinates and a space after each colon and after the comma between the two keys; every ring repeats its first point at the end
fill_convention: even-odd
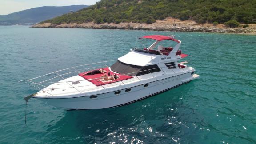
{"type": "Polygon", "coordinates": [[[90,96],[72,98],[34,98],[66,110],[112,108],[147,98],[170,88],[187,83],[198,77],[198,75],[191,75],[191,72],[188,72],[179,76],[172,76],[153,82],[145,83],[146,81],[144,81],[143,84],[130,87],[131,91],[129,92],[125,92],[128,88],[124,89],[123,86],[120,86],[113,92],[97,94],[96,98],[90,98],[90,96]],[[148,86],[144,87],[145,84],[148,84],[148,86]],[[114,94],[117,91],[120,91],[120,94],[114,94]]]}

